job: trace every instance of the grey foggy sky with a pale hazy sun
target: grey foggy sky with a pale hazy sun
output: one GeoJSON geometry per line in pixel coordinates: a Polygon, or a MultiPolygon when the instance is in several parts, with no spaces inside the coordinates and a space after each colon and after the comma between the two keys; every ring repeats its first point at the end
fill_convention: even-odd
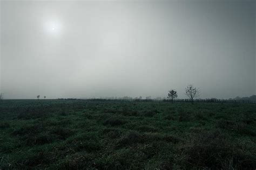
{"type": "Polygon", "coordinates": [[[5,98],[256,94],[255,1],[1,1],[5,98]]]}

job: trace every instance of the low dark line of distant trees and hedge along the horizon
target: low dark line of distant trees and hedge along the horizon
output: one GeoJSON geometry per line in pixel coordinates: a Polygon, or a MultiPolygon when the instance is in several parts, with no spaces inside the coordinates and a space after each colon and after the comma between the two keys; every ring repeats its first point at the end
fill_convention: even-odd
{"type": "MultiPolygon", "coordinates": [[[[171,100],[166,98],[153,98],[146,99],[142,98],[132,98],[132,97],[123,97],[123,98],[58,98],[58,100],[87,100],[87,101],[137,101],[137,102],[150,102],[150,101],[158,101],[158,102],[171,102],[171,100]]],[[[190,99],[175,99],[173,102],[176,103],[187,103],[191,102],[190,99]]],[[[256,95],[252,95],[250,97],[235,97],[230,99],[218,99],[218,98],[206,98],[206,99],[195,99],[194,102],[196,103],[256,103],[256,95]]]]}

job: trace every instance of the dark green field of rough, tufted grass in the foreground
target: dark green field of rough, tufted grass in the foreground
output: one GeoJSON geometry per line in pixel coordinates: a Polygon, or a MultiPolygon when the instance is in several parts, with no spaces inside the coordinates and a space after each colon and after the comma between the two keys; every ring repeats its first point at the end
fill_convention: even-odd
{"type": "Polygon", "coordinates": [[[0,169],[255,169],[256,104],[0,101],[0,169]]]}

